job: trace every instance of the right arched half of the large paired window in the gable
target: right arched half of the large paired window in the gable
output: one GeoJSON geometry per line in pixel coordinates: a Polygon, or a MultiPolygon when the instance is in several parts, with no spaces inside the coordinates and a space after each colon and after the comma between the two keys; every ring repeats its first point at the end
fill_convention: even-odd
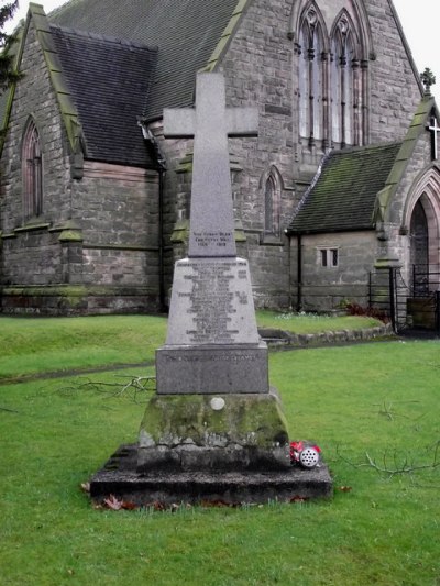
{"type": "Polygon", "coordinates": [[[337,20],[331,38],[332,141],[341,146],[361,144],[359,56],[353,25],[346,13],[337,20]]]}

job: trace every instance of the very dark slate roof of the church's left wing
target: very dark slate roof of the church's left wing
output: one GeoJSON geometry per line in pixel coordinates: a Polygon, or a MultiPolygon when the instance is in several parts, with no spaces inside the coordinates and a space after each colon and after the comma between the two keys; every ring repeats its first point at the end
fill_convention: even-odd
{"type": "Polygon", "coordinates": [[[89,159],[152,166],[136,115],[153,80],[157,51],[51,25],[63,76],[78,110],[89,159]]]}

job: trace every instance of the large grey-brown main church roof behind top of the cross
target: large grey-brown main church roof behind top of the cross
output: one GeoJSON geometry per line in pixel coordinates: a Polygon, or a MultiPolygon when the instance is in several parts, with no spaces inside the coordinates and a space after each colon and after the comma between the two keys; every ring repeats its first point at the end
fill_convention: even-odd
{"type": "Polygon", "coordinates": [[[195,74],[207,66],[245,0],[70,0],[48,15],[68,26],[158,47],[154,86],[139,111],[162,117],[164,107],[190,106],[195,74]]]}

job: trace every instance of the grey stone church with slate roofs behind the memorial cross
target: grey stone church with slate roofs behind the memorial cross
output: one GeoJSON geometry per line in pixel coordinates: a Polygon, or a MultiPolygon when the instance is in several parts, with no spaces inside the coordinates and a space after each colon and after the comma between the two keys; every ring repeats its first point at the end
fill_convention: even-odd
{"type": "Polygon", "coordinates": [[[15,51],[1,312],[166,310],[193,141],[164,139],[163,110],[194,106],[198,71],[224,75],[229,107],[258,109],[258,136],[229,142],[256,307],[367,307],[393,267],[408,298],[440,289],[435,79],[392,0],[31,3],[15,51]]]}

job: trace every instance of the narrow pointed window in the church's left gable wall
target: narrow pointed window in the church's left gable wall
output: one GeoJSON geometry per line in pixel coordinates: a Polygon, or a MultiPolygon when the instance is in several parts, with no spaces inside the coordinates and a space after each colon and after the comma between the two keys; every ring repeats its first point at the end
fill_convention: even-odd
{"type": "Polygon", "coordinates": [[[29,220],[43,213],[43,162],[40,133],[30,120],[22,145],[23,217],[29,220]]]}

